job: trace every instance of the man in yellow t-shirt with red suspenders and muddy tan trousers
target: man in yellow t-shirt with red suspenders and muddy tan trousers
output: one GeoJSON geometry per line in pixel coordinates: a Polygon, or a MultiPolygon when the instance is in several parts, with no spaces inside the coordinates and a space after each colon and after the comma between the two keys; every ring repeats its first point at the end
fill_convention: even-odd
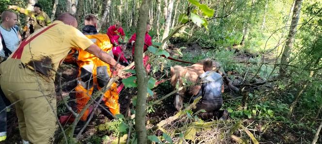
{"type": "Polygon", "coordinates": [[[53,143],[57,129],[55,74],[72,47],[95,55],[118,73],[124,68],[76,27],[73,15],[61,14],[52,25],[26,38],[0,64],[0,86],[9,101],[15,103],[24,143],[53,143]]]}

